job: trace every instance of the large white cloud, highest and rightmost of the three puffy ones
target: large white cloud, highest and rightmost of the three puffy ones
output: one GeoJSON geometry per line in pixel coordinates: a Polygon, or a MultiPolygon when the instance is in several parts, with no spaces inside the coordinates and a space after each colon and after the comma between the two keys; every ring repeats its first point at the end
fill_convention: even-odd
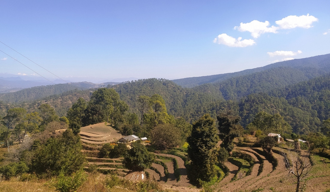
{"type": "Polygon", "coordinates": [[[286,18],[275,21],[275,23],[278,24],[281,29],[293,29],[296,27],[308,29],[313,27],[312,23],[315,21],[318,21],[318,19],[307,14],[302,16],[290,15],[286,18]]]}

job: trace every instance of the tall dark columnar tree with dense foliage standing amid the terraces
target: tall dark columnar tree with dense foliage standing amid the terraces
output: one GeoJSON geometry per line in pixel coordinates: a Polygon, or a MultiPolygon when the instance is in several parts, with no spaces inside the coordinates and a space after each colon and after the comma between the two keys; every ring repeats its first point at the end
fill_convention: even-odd
{"type": "Polygon", "coordinates": [[[187,139],[193,181],[210,181],[215,176],[215,146],[218,140],[214,119],[209,114],[203,115],[193,124],[187,139]]]}

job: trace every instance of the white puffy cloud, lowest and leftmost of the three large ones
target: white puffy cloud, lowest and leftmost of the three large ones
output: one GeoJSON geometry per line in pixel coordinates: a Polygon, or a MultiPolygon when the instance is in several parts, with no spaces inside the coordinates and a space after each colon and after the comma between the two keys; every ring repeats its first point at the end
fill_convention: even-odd
{"type": "Polygon", "coordinates": [[[213,43],[223,44],[223,45],[227,45],[229,47],[247,47],[247,46],[251,46],[251,45],[255,44],[253,39],[243,39],[242,40],[242,37],[239,37],[236,39],[234,37],[227,35],[226,33],[222,33],[222,34],[218,35],[213,40],[213,43]]]}

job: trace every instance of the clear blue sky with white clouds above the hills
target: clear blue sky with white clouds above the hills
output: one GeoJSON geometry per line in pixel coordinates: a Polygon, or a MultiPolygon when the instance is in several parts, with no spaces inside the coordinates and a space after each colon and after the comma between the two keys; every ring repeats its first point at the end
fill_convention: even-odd
{"type": "Polygon", "coordinates": [[[171,80],[329,54],[329,7],[328,0],[2,0],[0,73],[171,80]]]}

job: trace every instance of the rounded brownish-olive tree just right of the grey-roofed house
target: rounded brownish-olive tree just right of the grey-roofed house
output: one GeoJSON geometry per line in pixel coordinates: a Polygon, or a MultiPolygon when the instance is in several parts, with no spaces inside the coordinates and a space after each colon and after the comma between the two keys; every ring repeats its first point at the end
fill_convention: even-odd
{"type": "Polygon", "coordinates": [[[152,145],[160,150],[173,148],[181,143],[181,132],[173,124],[161,124],[152,130],[152,145]]]}

